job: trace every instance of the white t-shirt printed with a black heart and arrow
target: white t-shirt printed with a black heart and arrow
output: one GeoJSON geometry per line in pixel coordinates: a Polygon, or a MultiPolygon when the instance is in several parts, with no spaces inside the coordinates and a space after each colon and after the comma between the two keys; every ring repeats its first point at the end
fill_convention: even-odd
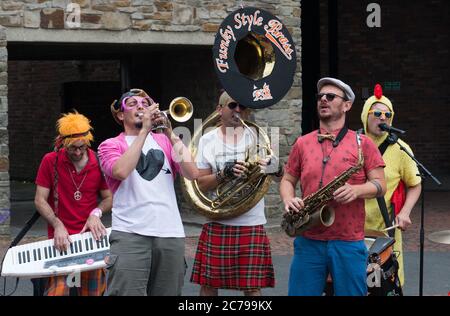
{"type": "MultiPolygon", "coordinates": [[[[136,136],[125,139],[130,146],[136,136]]],[[[185,237],[173,183],[169,161],[149,134],[136,168],[114,193],[114,230],[144,236],[185,237]]]]}

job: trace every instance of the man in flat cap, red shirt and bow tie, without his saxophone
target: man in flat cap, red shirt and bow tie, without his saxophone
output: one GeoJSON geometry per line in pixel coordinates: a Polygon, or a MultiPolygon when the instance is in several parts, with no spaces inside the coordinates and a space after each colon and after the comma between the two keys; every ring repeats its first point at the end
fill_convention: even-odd
{"type": "MultiPolygon", "coordinates": [[[[316,192],[358,163],[356,132],[345,126],[355,94],[335,78],[317,83],[319,130],[297,139],[289,154],[280,195],[286,212],[299,212],[303,200],[295,196],[300,181],[304,197],[316,192]]],[[[294,240],[289,295],[322,295],[328,274],[335,295],[367,295],[367,249],[364,244],[364,199],[386,191],[384,162],[376,145],[361,136],[363,167],[334,192],[329,207],[334,223],[312,227],[294,240]]]]}

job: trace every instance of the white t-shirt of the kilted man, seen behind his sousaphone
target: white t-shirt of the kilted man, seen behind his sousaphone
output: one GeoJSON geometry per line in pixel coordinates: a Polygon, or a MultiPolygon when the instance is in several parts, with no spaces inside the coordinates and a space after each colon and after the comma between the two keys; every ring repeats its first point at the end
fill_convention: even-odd
{"type": "MultiPolygon", "coordinates": [[[[219,129],[216,128],[200,138],[197,151],[197,167],[199,169],[211,168],[215,173],[217,170],[222,170],[227,161],[245,160],[247,148],[253,141],[250,132],[246,129],[244,136],[236,145],[225,143],[218,133],[219,129]]],[[[209,193],[209,195],[213,196],[213,193],[209,193]]],[[[238,217],[214,221],[232,226],[263,225],[267,222],[264,214],[264,198],[252,209],[238,217]]]]}

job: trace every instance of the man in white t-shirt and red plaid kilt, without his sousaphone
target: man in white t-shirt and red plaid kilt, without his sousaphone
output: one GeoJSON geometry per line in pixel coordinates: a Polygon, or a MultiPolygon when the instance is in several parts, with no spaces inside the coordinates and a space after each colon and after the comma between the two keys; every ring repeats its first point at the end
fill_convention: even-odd
{"type": "MultiPolygon", "coordinates": [[[[211,194],[219,184],[245,177],[244,160],[253,140],[242,124],[242,119],[249,115],[248,108],[223,92],[216,111],[222,125],[200,138],[196,157],[199,188],[211,194]]],[[[275,157],[266,157],[259,163],[265,173],[281,176],[282,168],[273,168],[277,165],[275,157]]],[[[191,276],[191,282],[201,286],[201,296],[217,296],[219,289],[234,289],[243,291],[246,296],[258,296],[261,288],[274,287],[265,223],[262,198],[242,215],[203,225],[191,276]]]]}

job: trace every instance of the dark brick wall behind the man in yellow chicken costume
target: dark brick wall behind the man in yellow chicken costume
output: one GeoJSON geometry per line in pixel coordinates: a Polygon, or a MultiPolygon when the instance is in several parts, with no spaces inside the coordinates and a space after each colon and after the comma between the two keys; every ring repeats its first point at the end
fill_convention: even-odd
{"type": "MultiPolygon", "coordinates": [[[[360,127],[365,98],[380,83],[393,102],[394,126],[407,130],[402,137],[432,172],[450,170],[450,12],[448,1],[377,1],[381,27],[366,25],[372,1],[338,1],[339,77],[352,86],[356,101],[349,123],[360,127]],[[366,95],[365,91],[368,91],[366,95]]],[[[326,10],[327,1],[322,1],[326,10]]],[[[326,19],[326,15],[321,15],[326,19]]],[[[321,21],[325,25],[326,21],[321,21]]],[[[327,29],[321,28],[326,44],[327,29]]],[[[323,65],[328,64],[325,45],[323,65]]],[[[322,76],[328,75],[326,66],[322,76]]],[[[436,174],[437,175],[437,174],[436,174]]]]}

